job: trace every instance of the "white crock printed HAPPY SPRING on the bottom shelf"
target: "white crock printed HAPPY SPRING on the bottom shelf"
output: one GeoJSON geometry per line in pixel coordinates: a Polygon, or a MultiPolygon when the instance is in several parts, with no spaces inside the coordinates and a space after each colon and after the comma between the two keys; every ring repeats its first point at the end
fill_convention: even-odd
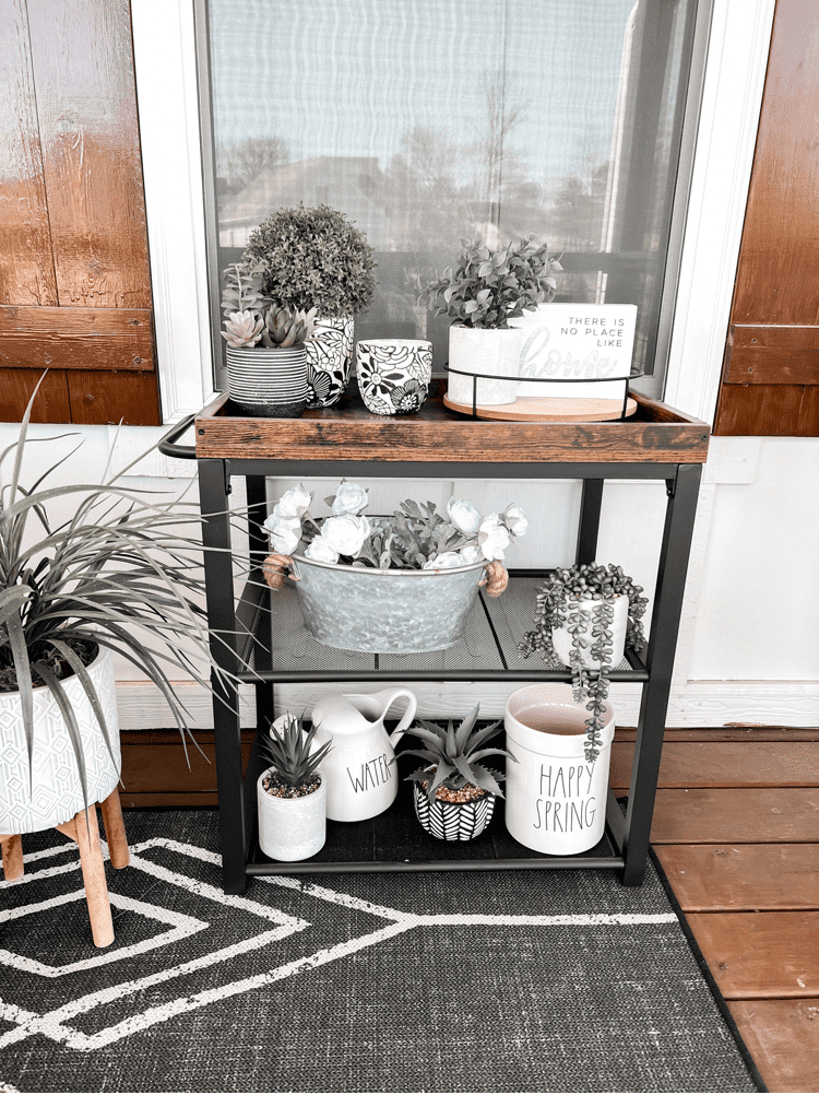
{"type": "Polygon", "coordinates": [[[506,701],[506,828],[546,855],[576,855],[594,848],[606,825],[615,712],[605,704],[600,753],[585,759],[588,712],[570,684],[530,684],[506,701]]]}

